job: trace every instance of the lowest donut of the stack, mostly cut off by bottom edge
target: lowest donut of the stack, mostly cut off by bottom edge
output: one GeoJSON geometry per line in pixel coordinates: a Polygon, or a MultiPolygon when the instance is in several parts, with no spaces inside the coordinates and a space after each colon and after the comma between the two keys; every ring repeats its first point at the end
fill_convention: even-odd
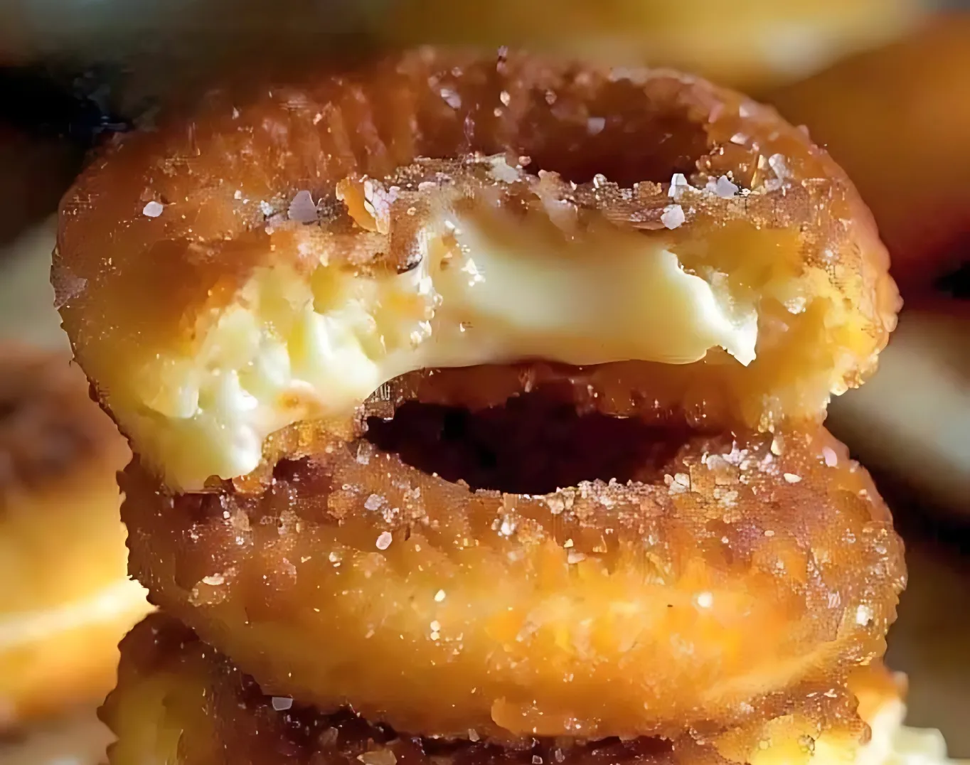
{"type": "Polygon", "coordinates": [[[763,746],[750,747],[750,741],[738,746],[724,735],[703,741],[681,735],[670,741],[641,737],[600,742],[537,737],[521,749],[500,749],[484,741],[420,737],[264,694],[229,659],[179,622],[159,614],[139,624],[122,643],[118,686],[100,714],[117,736],[110,750],[111,765],[141,765],[146,758],[171,765],[275,765],[284,760],[294,765],[539,765],[540,760],[562,765],[743,761],[834,765],[854,760],[889,765],[903,757],[948,762],[937,731],[902,726],[900,684],[882,665],[857,671],[851,685],[859,697],[858,712],[872,730],[871,739],[862,746],[855,738],[857,723],[838,717],[824,730],[799,740],[795,713],[767,725],[772,735],[763,740],[763,746]],[[750,747],[747,756],[738,753],[745,746],[750,747]]]}

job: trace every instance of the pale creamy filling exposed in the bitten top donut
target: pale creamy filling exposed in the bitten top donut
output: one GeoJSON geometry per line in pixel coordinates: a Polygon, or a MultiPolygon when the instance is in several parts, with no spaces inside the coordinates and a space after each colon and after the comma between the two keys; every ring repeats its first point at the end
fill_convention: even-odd
{"type": "Polygon", "coordinates": [[[732,302],[723,276],[684,271],[657,239],[497,228],[442,218],[419,235],[420,260],[404,273],[254,271],[236,303],[205,317],[194,355],[142,370],[125,418],[141,453],[170,485],[193,490],[253,470],[273,431],[346,415],[416,369],[688,364],[715,347],[744,365],[755,358],[755,308],[732,302]]]}

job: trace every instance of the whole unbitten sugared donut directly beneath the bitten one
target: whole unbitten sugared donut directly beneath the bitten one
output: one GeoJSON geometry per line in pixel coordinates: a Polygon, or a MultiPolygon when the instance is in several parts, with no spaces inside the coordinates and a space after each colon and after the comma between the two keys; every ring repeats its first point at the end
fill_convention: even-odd
{"type": "MultiPolygon", "coordinates": [[[[601,418],[622,428],[509,451],[536,418],[560,428],[550,399],[540,388],[509,403],[519,431],[493,412],[492,435],[469,436],[474,454],[491,437],[511,455],[496,474],[520,494],[474,492],[461,466],[429,475],[364,439],[278,462],[261,494],[228,482],[171,494],[136,460],[120,478],[132,573],[267,692],[429,736],[738,726],[809,689],[837,695],[884,652],[902,547],[866,473],[824,430],[710,435],[601,418]],[[639,445],[620,474],[630,483],[548,489],[571,475],[553,460],[549,493],[527,492],[540,484],[522,455],[567,462],[567,444],[584,440],[613,445],[609,477],[639,445]]],[[[436,427],[422,441],[427,421],[405,418],[414,452],[436,427]]]]}

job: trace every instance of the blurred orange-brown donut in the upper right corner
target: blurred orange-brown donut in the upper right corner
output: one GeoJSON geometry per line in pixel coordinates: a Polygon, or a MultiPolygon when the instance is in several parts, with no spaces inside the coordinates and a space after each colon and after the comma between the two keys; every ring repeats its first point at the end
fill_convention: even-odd
{"type": "Polygon", "coordinates": [[[852,176],[907,298],[970,262],[968,35],[970,15],[944,14],[771,96],[852,176]]]}

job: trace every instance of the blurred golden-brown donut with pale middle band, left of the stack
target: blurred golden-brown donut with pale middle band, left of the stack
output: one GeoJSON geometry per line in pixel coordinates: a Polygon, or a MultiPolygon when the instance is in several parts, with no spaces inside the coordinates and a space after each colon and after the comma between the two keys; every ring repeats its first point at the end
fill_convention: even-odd
{"type": "Polygon", "coordinates": [[[0,730],[103,697],[147,613],[118,518],[129,456],[65,354],[0,345],[0,730]]]}

